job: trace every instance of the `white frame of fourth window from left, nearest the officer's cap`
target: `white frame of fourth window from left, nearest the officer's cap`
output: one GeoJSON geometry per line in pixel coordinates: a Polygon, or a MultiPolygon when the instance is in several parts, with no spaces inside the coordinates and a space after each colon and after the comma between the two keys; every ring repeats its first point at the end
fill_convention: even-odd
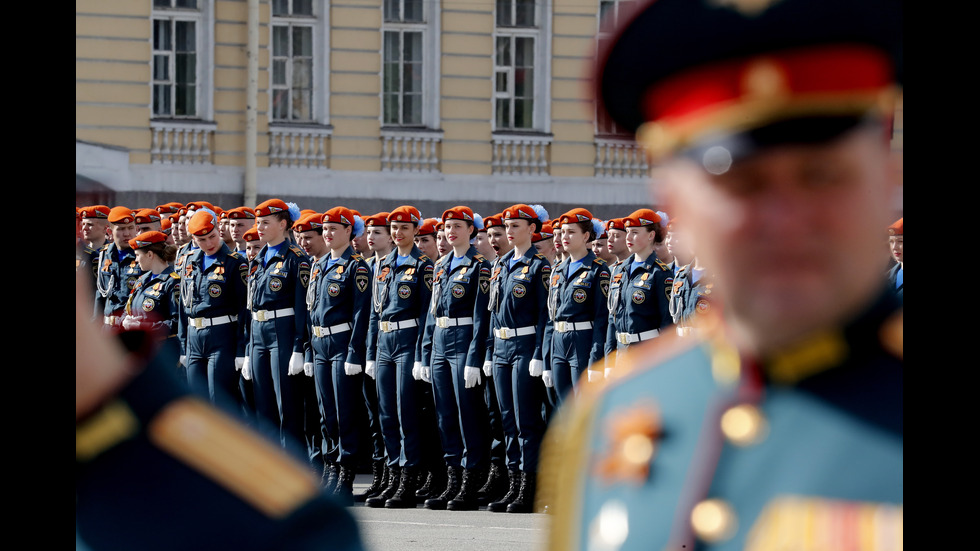
{"type": "MultiPolygon", "coordinates": [[[[510,0],[510,7],[516,5],[517,0],[510,0]]],[[[535,26],[533,27],[502,27],[497,25],[497,8],[499,2],[494,5],[494,32],[493,32],[493,106],[491,125],[494,132],[551,132],[551,19],[552,3],[536,1],[534,3],[535,26]],[[497,65],[497,39],[502,37],[531,37],[534,38],[534,100],[533,115],[531,117],[531,128],[514,128],[513,117],[511,127],[497,127],[497,100],[513,100],[514,94],[514,74],[511,67],[497,65]],[[497,91],[498,72],[507,72],[507,90],[497,91]]],[[[511,48],[511,59],[514,58],[514,48],[511,48]]],[[[513,104],[511,104],[513,105],[513,104]]]]}

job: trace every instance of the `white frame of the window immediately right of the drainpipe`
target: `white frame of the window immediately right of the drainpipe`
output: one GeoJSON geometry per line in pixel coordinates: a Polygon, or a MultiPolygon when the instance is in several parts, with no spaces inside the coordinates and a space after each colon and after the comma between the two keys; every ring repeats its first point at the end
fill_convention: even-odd
{"type": "MultiPolygon", "coordinates": [[[[290,4],[292,0],[290,0],[290,4]]],[[[269,6],[269,124],[272,125],[303,125],[330,124],[330,6],[328,0],[313,0],[313,15],[272,15],[272,5],[269,6]],[[275,90],[272,84],[272,46],[275,40],[273,27],[280,25],[309,26],[313,29],[313,90],[312,114],[308,120],[274,119],[273,99],[275,90]]],[[[290,83],[292,64],[287,63],[286,82],[290,83]]],[[[287,84],[292,88],[290,84],[287,84]]],[[[292,93],[290,92],[290,96],[292,93]]],[[[290,113],[291,116],[291,113],[290,113]]]]}

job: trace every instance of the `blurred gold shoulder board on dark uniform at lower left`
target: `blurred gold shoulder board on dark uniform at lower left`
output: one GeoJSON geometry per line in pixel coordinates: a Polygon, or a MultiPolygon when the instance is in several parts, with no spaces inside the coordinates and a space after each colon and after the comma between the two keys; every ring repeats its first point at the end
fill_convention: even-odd
{"type": "Polygon", "coordinates": [[[156,446],[269,517],[283,518],[317,494],[309,469],[197,398],[169,405],[147,434],[156,446]]]}

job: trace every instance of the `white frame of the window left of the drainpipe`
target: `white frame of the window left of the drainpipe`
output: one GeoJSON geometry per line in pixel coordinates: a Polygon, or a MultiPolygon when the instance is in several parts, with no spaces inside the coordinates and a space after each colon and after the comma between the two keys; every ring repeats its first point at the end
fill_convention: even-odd
{"type": "MultiPolygon", "coordinates": [[[[175,5],[173,0],[171,5],[175,5]]],[[[197,0],[197,8],[160,8],[153,6],[150,11],[150,118],[151,120],[188,120],[188,121],[210,121],[214,118],[214,2],[213,0],[197,0]],[[167,21],[194,21],[195,39],[197,46],[197,67],[195,73],[197,77],[197,88],[195,90],[195,104],[197,112],[194,115],[157,115],[153,112],[153,59],[157,50],[153,49],[153,27],[157,20],[167,21]]],[[[173,37],[176,39],[176,37],[173,37]]],[[[174,68],[173,51],[170,51],[170,74],[172,76],[170,84],[171,93],[175,84],[176,72],[174,68]]],[[[176,102],[171,103],[171,110],[176,109],[176,102]]]]}

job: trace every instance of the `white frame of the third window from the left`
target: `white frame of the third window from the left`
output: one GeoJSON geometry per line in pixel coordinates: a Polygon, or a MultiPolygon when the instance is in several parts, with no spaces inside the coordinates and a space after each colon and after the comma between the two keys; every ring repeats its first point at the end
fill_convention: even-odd
{"type": "MultiPolygon", "coordinates": [[[[404,0],[398,0],[399,6],[403,5],[404,0]]],[[[384,2],[381,6],[381,89],[378,92],[378,99],[381,103],[381,109],[378,113],[378,121],[382,128],[397,130],[399,128],[404,128],[406,130],[414,130],[419,128],[428,128],[432,130],[438,130],[441,124],[440,112],[439,112],[439,96],[440,96],[440,56],[439,52],[441,49],[441,35],[442,35],[442,18],[441,13],[441,0],[422,0],[422,21],[420,22],[401,22],[401,21],[385,21],[384,15],[384,2]],[[384,71],[385,71],[385,33],[389,31],[397,31],[404,33],[408,32],[421,32],[422,33],[422,117],[419,124],[393,124],[385,122],[385,81],[384,81],[384,71]]],[[[400,44],[404,45],[404,41],[400,44]]],[[[401,101],[399,100],[399,119],[401,119],[401,101]]]]}

